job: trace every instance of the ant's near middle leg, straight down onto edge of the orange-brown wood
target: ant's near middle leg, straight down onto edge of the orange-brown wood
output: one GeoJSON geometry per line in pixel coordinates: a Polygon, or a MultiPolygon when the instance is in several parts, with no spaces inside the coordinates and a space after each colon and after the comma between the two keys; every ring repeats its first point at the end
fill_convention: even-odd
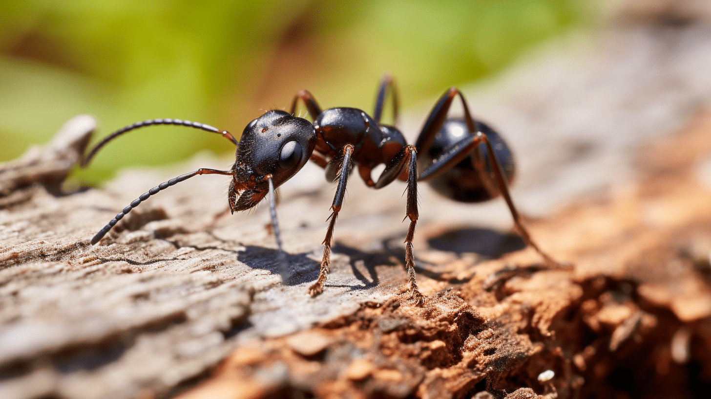
{"type": "Polygon", "coordinates": [[[410,227],[407,229],[405,238],[405,271],[407,271],[407,283],[410,285],[410,296],[415,299],[417,306],[424,304],[424,296],[417,289],[415,280],[415,254],[412,250],[412,240],[415,238],[415,224],[419,212],[417,210],[417,149],[414,145],[402,147],[397,155],[392,158],[390,164],[385,167],[383,173],[378,177],[375,188],[385,187],[395,180],[403,169],[407,167],[407,215],[410,218],[410,227]]]}

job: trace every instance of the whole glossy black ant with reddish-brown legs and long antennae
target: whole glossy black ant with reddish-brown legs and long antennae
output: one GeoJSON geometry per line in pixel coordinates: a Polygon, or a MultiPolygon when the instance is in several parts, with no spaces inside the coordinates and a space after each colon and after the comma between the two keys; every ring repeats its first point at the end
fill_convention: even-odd
{"type": "Polygon", "coordinates": [[[395,83],[392,77],[384,76],[378,86],[373,116],[357,108],[322,110],[308,90],[301,90],[294,96],[289,113],[284,110],[267,111],[247,124],[239,141],[226,130],[179,119],[144,120],[117,130],[92,148],[82,160],[82,167],[86,166],[107,142],[130,130],[149,125],[183,125],[221,134],[237,146],[235,163],[230,170],[203,168],[161,183],[119,212],[92,238],[91,243],[99,242],[131,209],[167,187],[195,175],[228,175],[232,176],[228,190],[232,213],[255,207],[269,193],[272,228],[281,250],[274,190],[296,175],[306,162],[312,160],[324,168],[326,179],[337,182],[338,186],[331,204],[332,213],[327,219],[328,229],[322,243],[324,254],[319,277],[309,287],[311,296],[321,293],[326,281],[331,262],[333,228],[343,205],[348,176],[355,165],[358,166],[358,175],[368,187],[380,189],[395,179],[407,182],[405,218],[410,219],[410,227],[405,238],[405,269],[410,295],[417,305],[424,303],[424,296],[420,294],[415,281],[415,256],[412,249],[418,217],[418,181],[429,181],[434,190],[460,202],[483,202],[499,195],[503,196],[515,228],[524,241],[540,254],[548,266],[560,267],[541,251],[521,224],[521,218],[508,192],[508,184],[515,174],[513,156],[508,145],[496,131],[471,117],[469,105],[461,91],[454,87],[449,88],[437,100],[415,145],[407,144],[395,126],[380,123],[388,93],[392,95],[392,114],[397,124],[395,83]],[[457,96],[464,108],[464,118],[447,118],[451,103],[457,96]],[[294,116],[299,100],[314,119],[313,123],[294,116]],[[385,170],[381,172],[378,180],[374,181],[371,172],[380,164],[386,165],[385,170]],[[418,169],[422,170],[419,175],[418,169]]]}

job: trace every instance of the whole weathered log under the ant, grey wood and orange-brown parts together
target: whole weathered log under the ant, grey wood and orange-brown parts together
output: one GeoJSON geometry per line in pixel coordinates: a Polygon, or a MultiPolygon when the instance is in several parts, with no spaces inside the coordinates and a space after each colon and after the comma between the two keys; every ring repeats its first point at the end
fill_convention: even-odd
{"type": "MultiPolygon", "coordinates": [[[[711,120],[700,113],[711,29],[702,14],[649,18],[470,90],[517,155],[515,202],[546,215],[529,222],[533,237],[574,270],[542,269],[517,236],[486,229],[510,226],[501,202],[423,188],[422,308],[404,294],[404,186],[356,178],[324,294],[306,294],[333,195],[313,165],[281,189],[285,284],[267,209],[225,213],[220,176],[151,197],[90,246],[150,187],[231,161],[127,171],[62,195],[93,128],[74,120],[0,165],[0,398],[700,392],[711,380],[711,120]]],[[[426,112],[405,121],[411,141],[426,112]]]]}

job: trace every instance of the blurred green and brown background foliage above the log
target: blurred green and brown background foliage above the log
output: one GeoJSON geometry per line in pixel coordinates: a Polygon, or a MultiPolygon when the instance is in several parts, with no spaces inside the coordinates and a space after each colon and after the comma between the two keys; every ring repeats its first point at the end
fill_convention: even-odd
{"type": "MultiPolygon", "coordinates": [[[[235,136],[302,88],[371,110],[383,73],[403,108],[505,68],[580,24],[580,0],[0,2],[0,161],[49,140],[74,115],[97,138],[137,120],[181,118],[235,136]]],[[[424,118],[424,115],[423,115],[424,118]]],[[[105,147],[85,182],[201,150],[218,135],[156,127],[105,147]]],[[[226,166],[226,165],[225,165],[226,166]]]]}

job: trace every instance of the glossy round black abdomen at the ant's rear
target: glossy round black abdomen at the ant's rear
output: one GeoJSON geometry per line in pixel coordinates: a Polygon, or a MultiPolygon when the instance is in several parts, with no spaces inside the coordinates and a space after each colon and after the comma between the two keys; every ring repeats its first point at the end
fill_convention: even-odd
{"type": "MultiPolygon", "coordinates": [[[[485,134],[489,142],[491,142],[494,153],[506,177],[506,182],[510,184],[515,175],[515,164],[513,162],[513,154],[511,154],[508,145],[496,131],[479,120],[476,121],[476,130],[485,134]]],[[[471,133],[467,131],[464,119],[448,119],[444,122],[444,125],[442,125],[442,129],[439,130],[439,133],[434,136],[432,147],[430,147],[426,153],[419,154],[420,162],[432,162],[432,160],[437,159],[444,150],[447,150],[452,145],[456,145],[459,140],[465,138],[467,135],[471,135],[471,133]]],[[[491,165],[491,159],[488,157],[486,145],[481,143],[477,151],[481,153],[486,174],[492,175],[493,165],[491,165]]],[[[498,195],[490,195],[489,191],[491,191],[491,189],[486,190],[486,187],[484,187],[481,177],[476,171],[472,157],[464,158],[464,160],[461,160],[461,162],[454,165],[454,167],[451,167],[447,172],[429,180],[429,185],[431,185],[435,191],[439,192],[440,195],[459,202],[483,202],[493,197],[498,197],[498,195]]]]}

